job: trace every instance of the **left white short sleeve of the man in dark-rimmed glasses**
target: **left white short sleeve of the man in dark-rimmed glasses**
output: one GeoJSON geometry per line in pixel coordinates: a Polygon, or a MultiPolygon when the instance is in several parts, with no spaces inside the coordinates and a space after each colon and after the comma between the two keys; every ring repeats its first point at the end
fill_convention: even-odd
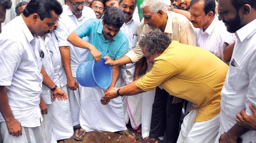
{"type": "Polygon", "coordinates": [[[61,16],[60,16],[60,19],[58,21],[58,27],[56,30],[54,30],[54,33],[55,33],[56,37],[58,38],[59,47],[70,46],[70,43],[67,41],[69,32],[65,26],[65,22],[66,22],[65,19],[61,18],[61,16]]]}

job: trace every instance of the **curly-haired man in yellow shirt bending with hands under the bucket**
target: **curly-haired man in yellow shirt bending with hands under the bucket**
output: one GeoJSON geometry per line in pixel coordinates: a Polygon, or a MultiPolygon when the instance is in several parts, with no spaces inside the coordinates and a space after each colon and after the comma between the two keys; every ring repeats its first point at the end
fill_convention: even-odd
{"type": "Polygon", "coordinates": [[[124,87],[112,88],[103,98],[135,95],[164,88],[173,96],[193,103],[184,118],[177,143],[213,143],[219,130],[220,91],[228,65],[211,52],[172,41],[159,31],[140,40],[140,47],[153,68],[124,87]]]}

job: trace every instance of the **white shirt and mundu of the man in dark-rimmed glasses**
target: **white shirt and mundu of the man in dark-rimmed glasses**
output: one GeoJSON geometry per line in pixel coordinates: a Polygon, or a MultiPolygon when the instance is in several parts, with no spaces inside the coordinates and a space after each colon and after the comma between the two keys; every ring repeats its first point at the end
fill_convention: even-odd
{"type": "MultiPolygon", "coordinates": [[[[59,27],[55,30],[58,39],[59,47],[70,47],[70,67],[72,76],[76,80],[76,69],[81,62],[87,58],[89,50],[77,48],[67,41],[68,35],[81,26],[85,21],[90,18],[96,18],[94,11],[84,6],[82,15],[79,19],[72,13],[68,6],[64,6],[63,13],[60,15],[59,27]]],[[[83,40],[88,41],[87,37],[83,40]]],[[[77,81],[76,81],[77,82],[77,81]]],[[[77,82],[78,83],[78,82],[77,82]]],[[[71,117],[73,126],[79,125],[79,110],[80,110],[80,93],[79,90],[72,91],[68,88],[69,103],[71,109],[71,117]]]]}

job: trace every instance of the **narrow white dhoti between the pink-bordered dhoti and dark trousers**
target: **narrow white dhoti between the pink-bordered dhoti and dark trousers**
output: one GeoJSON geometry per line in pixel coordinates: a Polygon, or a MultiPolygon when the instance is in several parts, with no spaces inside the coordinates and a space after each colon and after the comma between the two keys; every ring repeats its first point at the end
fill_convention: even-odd
{"type": "Polygon", "coordinates": [[[149,136],[152,105],[154,103],[156,91],[144,92],[142,96],[142,118],[141,118],[141,135],[144,139],[149,136]]]}

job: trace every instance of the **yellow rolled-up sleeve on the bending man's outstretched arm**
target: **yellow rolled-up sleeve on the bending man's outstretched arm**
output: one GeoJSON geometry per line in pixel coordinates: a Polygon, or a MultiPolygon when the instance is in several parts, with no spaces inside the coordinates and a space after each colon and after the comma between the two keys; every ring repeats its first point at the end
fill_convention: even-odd
{"type": "Polygon", "coordinates": [[[156,60],[152,70],[139,79],[136,82],[136,86],[143,91],[152,91],[179,72],[180,69],[173,64],[162,59],[156,60]]]}

